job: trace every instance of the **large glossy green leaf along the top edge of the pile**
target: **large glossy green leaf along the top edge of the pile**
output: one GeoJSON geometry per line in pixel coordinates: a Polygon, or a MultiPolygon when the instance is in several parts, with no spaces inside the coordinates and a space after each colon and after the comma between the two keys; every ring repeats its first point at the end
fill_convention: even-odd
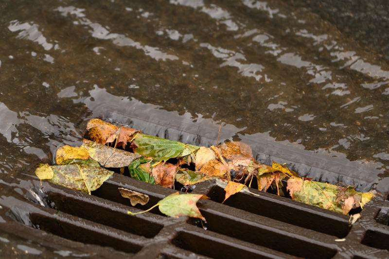
{"type": "Polygon", "coordinates": [[[143,156],[153,157],[157,161],[167,161],[169,158],[194,154],[199,147],[184,144],[179,141],[158,138],[145,134],[137,134],[132,142],[137,146],[134,152],[143,156]]]}

